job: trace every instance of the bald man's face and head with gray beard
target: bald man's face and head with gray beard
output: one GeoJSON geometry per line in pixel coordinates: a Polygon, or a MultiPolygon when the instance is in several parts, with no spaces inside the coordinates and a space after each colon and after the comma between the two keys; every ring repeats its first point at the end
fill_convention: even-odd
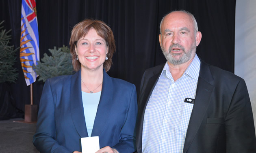
{"type": "Polygon", "coordinates": [[[161,32],[159,41],[167,62],[180,65],[193,60],[201,33],[195,34],[193,19],[187,13],[177,11],[167,15],[161,32]]]}

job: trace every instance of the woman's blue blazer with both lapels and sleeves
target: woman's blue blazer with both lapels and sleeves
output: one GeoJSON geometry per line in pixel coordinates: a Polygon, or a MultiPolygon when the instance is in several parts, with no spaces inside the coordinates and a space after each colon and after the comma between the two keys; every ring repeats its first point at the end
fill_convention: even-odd
{"type": "MultiPolygon", "coordinates": [[[[74,75],[48,79],[40,100],[33,144],[40,152],[81,151],[80,138],[88,137],[81,94],[81,70],[74,75]]],[[[99,136],[100,148],[121,153],[136,150],[135,85],[108,76],[104,70],[102,93],[91,136],[99,136]]]]}

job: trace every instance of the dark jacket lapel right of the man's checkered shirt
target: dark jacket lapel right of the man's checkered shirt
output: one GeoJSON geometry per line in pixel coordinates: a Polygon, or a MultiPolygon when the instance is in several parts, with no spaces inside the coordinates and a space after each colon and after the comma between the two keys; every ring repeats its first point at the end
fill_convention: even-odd
{"type": "Polygon", "coordinates": [[[189,120],[189,126],[185,138],[183,153],[189,149],[197,131],[202,123],[211,96],[213,94],[214,85],[211,84],[213,76],[207,64],[201,60],[200,73],[197,82],[197,91],[195,96],[195,104],[189,120]]]}

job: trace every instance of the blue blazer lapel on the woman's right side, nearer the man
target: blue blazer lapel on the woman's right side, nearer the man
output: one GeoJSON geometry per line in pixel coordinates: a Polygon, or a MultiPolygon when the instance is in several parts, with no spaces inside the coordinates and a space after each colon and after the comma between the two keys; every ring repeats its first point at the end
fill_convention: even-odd
{"type": "Polygon", "coordinates": [[[107,125],[109,112],[111,111],[113,94],[112,79],[104,70],[100,103],[98,105],[91,136],[100,136],[101,132],[104,130],[104,127],[107,125]]]}

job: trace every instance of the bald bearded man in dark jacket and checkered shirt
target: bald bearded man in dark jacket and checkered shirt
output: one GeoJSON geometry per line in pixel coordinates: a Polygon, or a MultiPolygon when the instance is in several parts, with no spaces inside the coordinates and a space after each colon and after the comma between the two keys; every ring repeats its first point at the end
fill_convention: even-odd
{"type": "Polygon", "coordinates": [[[245,81],[200,60],[201,38],[191,13],[163,17],[159,42],[167,62],[143,74],[139,153],[256,153],[245,81]]]}

